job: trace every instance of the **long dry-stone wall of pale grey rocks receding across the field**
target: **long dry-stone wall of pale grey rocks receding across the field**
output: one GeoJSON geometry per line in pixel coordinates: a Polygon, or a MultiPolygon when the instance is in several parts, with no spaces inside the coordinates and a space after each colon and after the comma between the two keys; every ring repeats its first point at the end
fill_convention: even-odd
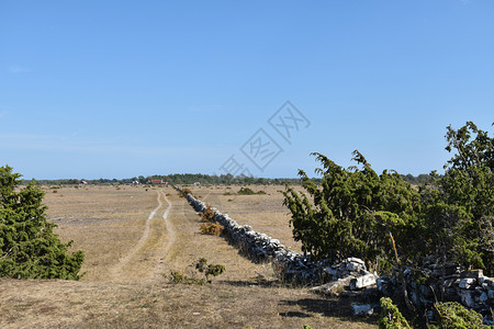
{"type": "MultiPolygon", "coordinates": [[[[186,198],[198,213],[207,208],[192,194],[187,194],[186,198]]],[[[367,271],[360,259],[348,258],[339,264],[330,264],[328,261],[312,262],[308,256],[287,249],[278,239],[257,232],[249,225],[239,226],[228,215],[213,209],[215,213],[213,219],[225,227],[225,236],[232,245],[254,261],[273,262],[287,281],[317,285],[313,290],[328,294],[341,286],[351,292],[375,284],[384,296],[392,297],[400,291],[396,276],[381,275],[378,279],[375,273],[367,271]]],[[[430,309],[436,300],[441,299],[459,302],[482,314],[486,324],[492,321],[494,280],[485,277],[482,270],[464,271],[453,263],[444,268],[429,264],[420,275],[414,273],[412,269],[405,269],[404,275],[408,295],[418,309],[430,309]],[[418,277],[423,277],[422,281],[418,277]]]]}

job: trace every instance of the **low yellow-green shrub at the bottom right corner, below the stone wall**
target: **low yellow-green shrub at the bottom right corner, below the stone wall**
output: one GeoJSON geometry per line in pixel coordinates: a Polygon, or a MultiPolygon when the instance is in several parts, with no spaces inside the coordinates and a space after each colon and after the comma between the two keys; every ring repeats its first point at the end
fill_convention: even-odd
{"type": "Polygon", "coordinates": [[[437,326],[430,329],[489,329],[494,328],[482,324],[482,315],[464,308],[459,303],[436,303],[437,326]]]}

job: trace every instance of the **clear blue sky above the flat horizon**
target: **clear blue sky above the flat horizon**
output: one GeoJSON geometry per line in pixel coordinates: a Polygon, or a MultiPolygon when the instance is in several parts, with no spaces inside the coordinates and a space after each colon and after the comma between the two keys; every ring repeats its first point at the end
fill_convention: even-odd
{"type": "Polygon", "coordinates": [[[494,1],[1,1],[0,166],[24,178],[440,170],[494,122],[494,1]],[[268,124],[290,100],[310,121],[268,124]],[[259,129],[283,151],[239,150],[259,129]]]}

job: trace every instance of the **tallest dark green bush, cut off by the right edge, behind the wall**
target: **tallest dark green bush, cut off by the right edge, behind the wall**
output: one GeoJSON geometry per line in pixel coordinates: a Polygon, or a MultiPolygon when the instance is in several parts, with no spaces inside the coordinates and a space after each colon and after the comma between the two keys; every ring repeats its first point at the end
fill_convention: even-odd
{"type": "Polygon", "coordinates": [[[442,177],[420,190],[423,237],[440,262],[457,261],[494,274],[494,138],[472,123],[448,127],[448,151],[456,154],[442,177]]]}

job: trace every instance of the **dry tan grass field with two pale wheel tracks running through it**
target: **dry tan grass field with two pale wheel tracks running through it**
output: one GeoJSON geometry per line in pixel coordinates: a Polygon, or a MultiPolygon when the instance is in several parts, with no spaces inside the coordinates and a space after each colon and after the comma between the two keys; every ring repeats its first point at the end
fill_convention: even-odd
{"type": "MultiPolygon", "coordinates": [[[[266,195],[224,195],[239,186],[193,193],[239,224],[296,250],[281,205],[282,186],[266,195]]],[[[171,188],[45,189],[48,218],[64,241],[86,252],[79,282],[0,279],[0,328],[373,328],[351,317],[350,299],[326,298],[273,279],[223,238],[199,234],[200,220],[171,188]],[[211,285],[164,277],[199,258],[224,264],[211,285]]]]}

